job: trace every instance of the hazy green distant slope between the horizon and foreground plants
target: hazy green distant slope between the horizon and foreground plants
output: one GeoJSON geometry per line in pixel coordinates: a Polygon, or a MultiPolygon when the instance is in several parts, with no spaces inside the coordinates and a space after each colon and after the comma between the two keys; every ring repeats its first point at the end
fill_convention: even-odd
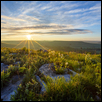
{"type": "MultiPolygon", "coordinates": [[[[1,47],[7,47],[7,45],[4,45],[4,43],[17,45],[20,42],[21,41],[4,41],[3,44],[1,43],[1,47]]],[[[96,53],[99,53],[100,50],[97,50],[97,49],[98,48],[101,49],[101,44],[86,43],[82,41],[37,41],[37,42],[43,45],[45,48],[52,49],[52,50],[59,50],[59,51],[78,51],[79,52],[81,51],[81,47],[82,47],[83,51],[85,51],[85,49],[87,50],[88,48],[89,49],[88,51],[96,50],[96,53]]],[[[16,48],[22,48],[24,47],[24,44],[25,44],[25,41],[23,41],[16,48]]],[[[32,46],[32,43],[30,44],[31,49],[35,49],[35,50],[41,49],[41,46],[36,44],[34,41],[33,41],[33,45],[34,47],[32,46]]],[[[12,48],[12,45],[11,46],[9,45],[8,47],[12,48]]],[[[25,44],[25,47],[28,48],[28,43],[25,44]]]]}

